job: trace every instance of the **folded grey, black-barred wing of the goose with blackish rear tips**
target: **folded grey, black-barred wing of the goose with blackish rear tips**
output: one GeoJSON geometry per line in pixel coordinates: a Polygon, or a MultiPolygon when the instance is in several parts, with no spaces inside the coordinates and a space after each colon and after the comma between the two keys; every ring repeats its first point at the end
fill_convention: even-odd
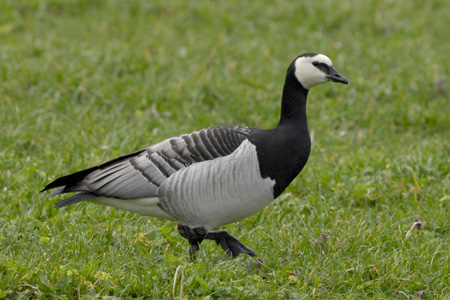
{"type": "Polygon", "coordinates": [[[100,196],[117,199],[156,197],[158,187],[172,174],[194,163],[231,154],[253,131],[248,127],[210,127],[170,138],[145,150],[99,166],[63,176],[42,191],[50,196],[80,192],[58,202],[63,207],[100,196]]]}

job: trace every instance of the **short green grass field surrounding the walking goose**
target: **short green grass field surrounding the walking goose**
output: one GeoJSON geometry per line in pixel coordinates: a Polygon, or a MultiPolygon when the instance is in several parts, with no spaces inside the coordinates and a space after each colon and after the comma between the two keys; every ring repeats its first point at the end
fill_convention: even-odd
{"type": "Polygon", "coordinates": [[[0,3],[0,298],[448,299],[448,3],[0,3]],[[212,125],[276,125],[288,64],[334,61],[309,94],[309,162],[196,263],[173,222],[38,191],[212,125]],[[422,230],[407,233],[414,220],[422,230]]]}

